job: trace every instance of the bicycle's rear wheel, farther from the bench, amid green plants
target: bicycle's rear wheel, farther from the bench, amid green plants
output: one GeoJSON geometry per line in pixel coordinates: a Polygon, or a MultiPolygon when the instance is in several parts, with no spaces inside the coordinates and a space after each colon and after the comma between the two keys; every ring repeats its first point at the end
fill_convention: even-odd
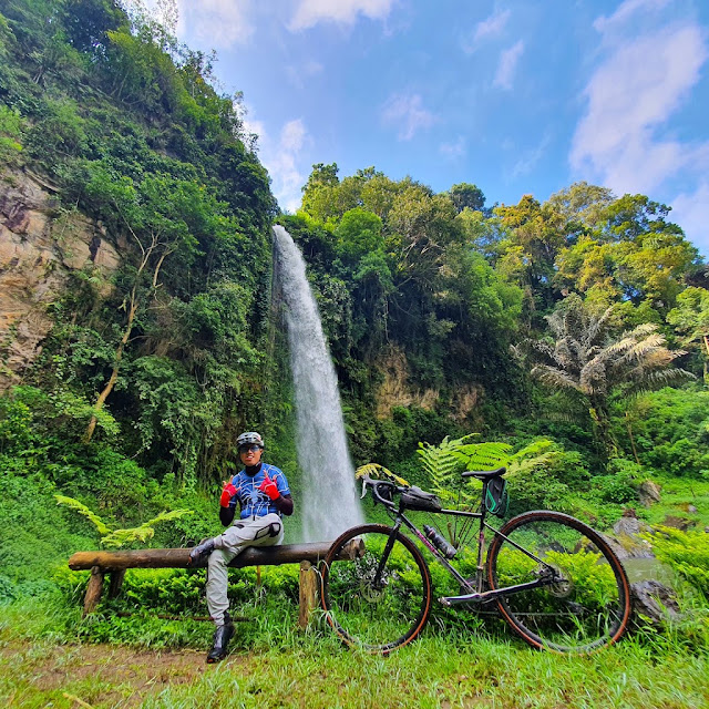
{"type": "Polygon", "coordinates": [[[630,586],[618,557],[569,515],[537,511],[510,520],[490,545],[487,575],[492,588],[511,587],[500,610],[536,648],[590,653],[628,626],[630,586]]]}

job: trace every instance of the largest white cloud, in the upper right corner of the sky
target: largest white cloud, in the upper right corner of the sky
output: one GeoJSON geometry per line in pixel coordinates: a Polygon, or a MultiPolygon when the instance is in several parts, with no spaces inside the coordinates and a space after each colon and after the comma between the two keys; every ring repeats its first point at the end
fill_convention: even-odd
{"type": "Polygon", "coordinates": [[[700,78],[709,52],[699,27],[685,22],[637,35],[636,19],[666,0],[627,0],[596,25],[604,33],[605,61],[584,94],[569,162],[578,176],[617,193],[648,194],[682,171],[709,167],[709,144],[682,143],[662,133],[700,78]],[[626,35],[623,35],[625,29],[626,35]]]}

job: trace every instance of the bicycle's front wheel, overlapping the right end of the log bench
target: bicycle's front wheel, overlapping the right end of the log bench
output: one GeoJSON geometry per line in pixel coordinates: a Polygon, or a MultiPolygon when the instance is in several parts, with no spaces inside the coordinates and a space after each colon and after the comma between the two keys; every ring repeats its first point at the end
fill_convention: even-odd
{"type": "Polygon", "coordinates": [[[352,527],[325,559],[322,606],[336,633],[350,646],[389,654],[423,629],[431,613],[431,573],[411,540],[383,524],[352,527]],[[363,555],[337,561],[352,540],[363,555]]]}

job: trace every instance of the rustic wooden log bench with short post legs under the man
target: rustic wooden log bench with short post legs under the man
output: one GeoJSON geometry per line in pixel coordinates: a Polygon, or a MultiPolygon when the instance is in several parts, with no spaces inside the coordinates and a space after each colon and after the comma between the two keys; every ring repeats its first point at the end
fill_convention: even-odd
{"type": "MultiPolygon", "coordinates": [[[[299,614],[298,624],[308,625],[310,612],[318,605],[319,575],[317,565],[330,548],[329,542],[312,544],[281,544],[280,546],[249,546],[236,556],[229,566],[275,566],[280,564],[300,564],[299,614]]],[[[353,540],[338,558],[354,559],[364,553],[361,540],[353,540]]],[[[109,598],[115,598],[121,592],[127,568],[201,568],[206,561],[194,566],[189,564],[189,548],[179,549],[137,549],[131,552],[76,552],[69,562],[72,571],[91,569],[91,578],[84,596],[84,615],[93,613],[103,594],[103,580],[109,574],[109,598]]]]}

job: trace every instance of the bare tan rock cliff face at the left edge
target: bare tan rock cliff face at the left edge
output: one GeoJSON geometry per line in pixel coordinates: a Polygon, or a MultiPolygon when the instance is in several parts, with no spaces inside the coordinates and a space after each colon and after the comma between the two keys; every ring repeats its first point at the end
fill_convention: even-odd
{"type": "Polygon", "coordinates": [[[48,306],[72,270],[119,266],[105,230],[60,209],[56,189],[27,172],[0,178],[0,390],[19,381],[52,327],[48,306]]]}

